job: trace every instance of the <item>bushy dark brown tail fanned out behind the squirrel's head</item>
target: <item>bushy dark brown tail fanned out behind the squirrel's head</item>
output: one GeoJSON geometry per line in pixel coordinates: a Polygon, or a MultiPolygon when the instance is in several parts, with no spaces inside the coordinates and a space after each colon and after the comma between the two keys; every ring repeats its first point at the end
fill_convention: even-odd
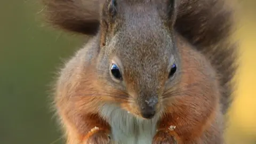
{"type": "MultiPolygon", "coordinates": [[[[46,19],[54,26],[86,35],[97,34],[100,4],[104,0],[42,0],[46,19]]],[[[221,75],[222,111],[229,108],[236,69],[235,44],[227,42],[234,23],[233,7],[226,0],[180,0],[175,29],[208,57],[221,75]],[[227,49],[223,49],[226,47],[227,49]]]]}

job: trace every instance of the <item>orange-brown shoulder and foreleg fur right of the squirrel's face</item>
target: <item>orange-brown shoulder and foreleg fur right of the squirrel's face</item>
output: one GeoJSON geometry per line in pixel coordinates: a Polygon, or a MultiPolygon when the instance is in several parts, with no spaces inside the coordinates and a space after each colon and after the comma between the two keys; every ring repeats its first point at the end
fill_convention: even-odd
{"type": "Polygon", "coordinates": [[[223,143],[223,125],[219,124],[223,119],[219,116],[218,102],[221,95],[214,69],[201,54],[191,50],[193,47],[182,39],[178,42],[183,69],[178,87],[187,88],[166,101],[169,108],[158,122],[158,131],[162,133],[168,131],[169,126],[177,127],[169,133],[178,135],[178,143],[223,143]],[[193,84],[195,86],[187,86],[193,84]],[[209,135],[203,137],[204,134],[209,135]]]}

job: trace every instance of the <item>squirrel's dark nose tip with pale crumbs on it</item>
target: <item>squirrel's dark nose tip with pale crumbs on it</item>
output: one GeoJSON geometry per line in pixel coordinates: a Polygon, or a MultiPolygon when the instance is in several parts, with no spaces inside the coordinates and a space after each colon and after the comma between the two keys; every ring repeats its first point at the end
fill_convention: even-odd
{"type": "Polygon", "coordinates": [[[144,105],[141,107],[141,116],[143,118],[151,119],[156,114],[156,104],[158,102],[157,97],[150,98],[145,100],[144,105]]]}

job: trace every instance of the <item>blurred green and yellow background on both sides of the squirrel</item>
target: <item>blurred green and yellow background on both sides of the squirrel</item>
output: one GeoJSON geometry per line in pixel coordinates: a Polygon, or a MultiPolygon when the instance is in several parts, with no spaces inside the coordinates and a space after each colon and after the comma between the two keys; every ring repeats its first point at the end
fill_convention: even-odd
{"type": "MultiPolygon", "coordinates": [[[[256,1],[239,2],[241,65],[226,132],[228,144],[256,143],[256,1]]],[[[33,0],[0,2],[0,144],[63,143],[50,110],[51,83],[81,36],[42,25],[43,6],[33,0]]]]}

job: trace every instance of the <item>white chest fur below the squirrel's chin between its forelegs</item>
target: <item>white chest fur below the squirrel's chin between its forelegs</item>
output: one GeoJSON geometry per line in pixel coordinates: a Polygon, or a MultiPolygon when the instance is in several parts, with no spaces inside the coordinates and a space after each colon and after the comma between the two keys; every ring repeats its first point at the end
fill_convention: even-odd
{"type": "Polygon", "coordinates": [[[156,118],[140,119],[114,105],[103,106],[101,115],[111,125],[114,144],[150,144],[156,134],[156,118]]]}

